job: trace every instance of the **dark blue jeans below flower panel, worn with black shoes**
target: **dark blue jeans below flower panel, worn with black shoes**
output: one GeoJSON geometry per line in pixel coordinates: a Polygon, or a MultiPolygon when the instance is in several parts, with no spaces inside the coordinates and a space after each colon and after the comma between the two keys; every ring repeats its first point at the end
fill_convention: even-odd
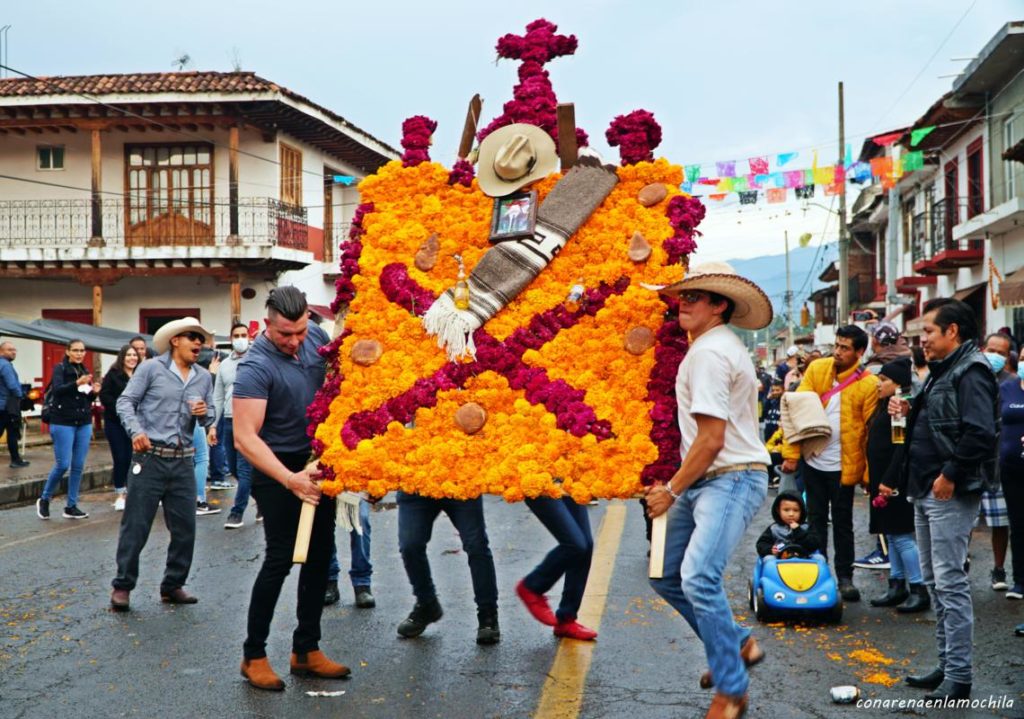
{"type": "Polygon", "coordinates": [[[447,514],[455,524],[462,539],[462,548],[469,558],[476,608],[497,609],[498,579],[483,522],[483,500],[479,497],[475,500],[435,500],[398,493],[398,551],[416,600],[425,603],[437,598],[427,559],[427,543],[430,542],[434,520],[441,512],[447,514]]]}

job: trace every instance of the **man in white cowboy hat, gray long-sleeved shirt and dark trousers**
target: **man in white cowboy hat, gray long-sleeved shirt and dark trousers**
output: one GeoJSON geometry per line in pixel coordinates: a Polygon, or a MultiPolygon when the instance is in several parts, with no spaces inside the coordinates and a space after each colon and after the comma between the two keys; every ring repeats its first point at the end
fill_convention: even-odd
{"type": "Polygon", "coordinates": [[[129,595],[138,580],[138,556],[161,502],[171,543],[160,598],[170,604],[197,601],[182,587],[196,545],[191,460],[196,423],[207,428],[211,443],[217,441],[213,413],[207,412],[213,405],[213,380],[196,364],[210,336],[195,318],[167,323],[154,336],[159,355],[138,366],[118,397],[118,416],[131,436],[134,454],[118,535],[118,575],[112,582],[111,606],[116,611],[129,608],[129,595]]]}

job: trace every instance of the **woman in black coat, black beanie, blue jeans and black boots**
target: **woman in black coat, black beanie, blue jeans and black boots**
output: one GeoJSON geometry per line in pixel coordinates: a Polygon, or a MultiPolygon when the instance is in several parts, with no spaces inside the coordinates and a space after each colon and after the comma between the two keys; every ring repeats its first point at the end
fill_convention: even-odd
{"type": "Polygon", "coordinates": [[[903,445],[892,441],[889,397],[909,391],[910,360],[888,363],[879,372],[879,404],[867,425],[867,489],[871,496],[869,531],[889,543],[889,591],[870,600],[871,606],[896,606],[897,611],[924,611],[931,606],[921,574],[921,556],[913,530],[913,507],[895,487],[902,465],[903,445]],[[895,494],[894,494],[895,493],[895,494]],[[906,584],[909,583],[909,591],[906,584]]]}

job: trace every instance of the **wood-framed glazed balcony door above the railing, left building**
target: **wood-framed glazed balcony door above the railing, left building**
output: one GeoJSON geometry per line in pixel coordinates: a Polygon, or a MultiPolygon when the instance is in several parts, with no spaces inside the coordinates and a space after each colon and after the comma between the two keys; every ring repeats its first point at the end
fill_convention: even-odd
{"type": "Polygon", "coordinates": [[[126,147],[128,222],[160,219],[172,212],[210,224],[213,147],[208,144],[126,147]]]}

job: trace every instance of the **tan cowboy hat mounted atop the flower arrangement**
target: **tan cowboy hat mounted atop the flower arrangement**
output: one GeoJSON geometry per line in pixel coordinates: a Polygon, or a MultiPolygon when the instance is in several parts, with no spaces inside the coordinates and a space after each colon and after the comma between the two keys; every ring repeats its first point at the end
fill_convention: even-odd
{"type": "Polygon", "coordinates": [[[480,142],[477,181],[484,195],[502,198],[558,167],[551,135],[536,125],[517,123],[492,132],[480,142]]]}

